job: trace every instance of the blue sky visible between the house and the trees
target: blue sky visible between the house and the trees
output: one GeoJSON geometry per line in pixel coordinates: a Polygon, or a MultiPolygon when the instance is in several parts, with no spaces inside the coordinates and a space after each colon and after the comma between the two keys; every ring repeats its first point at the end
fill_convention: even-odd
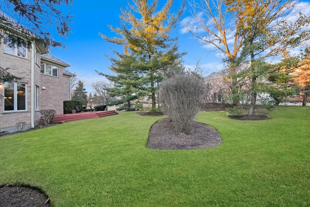
{"type": "MultiPolygon", "coordinates": [[[[161,4],[166,0],[159,0],[161,4]]],[[[175,0],[174,8],[180,6],[181,0],[175,0]]],[[[72,32],[67,39],[60,38],[55,34],[56,40],[61,40],[66,44],[67,49],[52,48],[50,53],[62,59],[71,67],[67,68],[70,72],[76,72],[81,80],[85,81],[86,91],[93,92],[91,84],[98,80],[106,80],[103,76],[99,76],[95,70],[111,73],[108,69],[110,62],[104,56],[111,55],[110,48],[116,48],[115,45],[107,43],[100,37],[99,32],[113,37],[115,33],[111,32],[108,25],[118,26],[121,8],[127,6],[127,0],[103,1],[92,0],[91,3],[86,3],[84,0],[74,0],[74,7],[66,8],[70,11],[74,24],[71,25],[72,32]]],[[[188,14],[183,15],[182,19],[188,14]]],[[[181,20],[182,20],[181,19],[181,20]]],[[[186,51],[187,55],[183,57],[184,64],[187,66],[195,66],[200,60],[200,64],[205,72],[205,75],[222,69],[221,60],[212,52],[198,43],[189,33],[182,33],[180,24],[171,31],[171,37],[178,36],[179,51],[186,51]]],[[[122,48],[118,50],[122,52],[122,48]]]]}

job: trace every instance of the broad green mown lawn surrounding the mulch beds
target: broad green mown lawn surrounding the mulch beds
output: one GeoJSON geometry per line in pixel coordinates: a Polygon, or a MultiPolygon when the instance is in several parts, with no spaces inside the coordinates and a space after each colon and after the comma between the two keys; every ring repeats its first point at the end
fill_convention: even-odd
{"type": "Polygon", "coordinates": [[[55,207],[310,206],[310,107],[277,107],[271,119],[201,112],[223,142],[151,150],[163,117],[135,112],[0,137],[0,184],[28,184],[55,207]]]}

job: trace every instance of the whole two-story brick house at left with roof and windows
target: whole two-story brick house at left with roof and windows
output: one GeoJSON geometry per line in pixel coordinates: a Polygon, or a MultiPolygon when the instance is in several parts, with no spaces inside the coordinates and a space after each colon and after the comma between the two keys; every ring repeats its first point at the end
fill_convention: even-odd
{"type": "Polygon", "coordinates": [[[34,127],[41,118],[40,110],[53,109],[63,114],[63,101],[70,100],[70,65],[49,54],[48,48],[36,42],[14,19],[0,12],[8,21],[0,22],[0,67],[20,80],[0,82],[0,132],[16,130],[16,123],[34,127]],[[16,41],[16,37],[25,42],[16,41]],[[28,44],[27,44],[28,43],[28,44]]]}

